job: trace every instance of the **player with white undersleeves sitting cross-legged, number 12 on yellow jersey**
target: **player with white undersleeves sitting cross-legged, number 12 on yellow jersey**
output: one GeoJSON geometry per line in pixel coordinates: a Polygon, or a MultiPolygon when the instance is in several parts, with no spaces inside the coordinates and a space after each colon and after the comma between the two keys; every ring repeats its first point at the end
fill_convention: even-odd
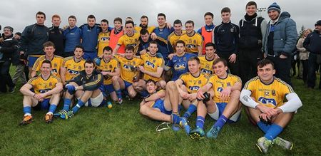
{"type": "Polygon", "coordinates": [[[240,94],[240,101],[247,107],[250,122],[265,133],[256,144],[263,153],[267,153],[272,144],[292,150],[292,142],[277,136],[302,106],[292,87],[275,78],[274,74],[272,61],[264,59],[258,62],[258,76],[245,83],[240,94]],[[283,102],[284,98],[287,102],[283,102]]]}

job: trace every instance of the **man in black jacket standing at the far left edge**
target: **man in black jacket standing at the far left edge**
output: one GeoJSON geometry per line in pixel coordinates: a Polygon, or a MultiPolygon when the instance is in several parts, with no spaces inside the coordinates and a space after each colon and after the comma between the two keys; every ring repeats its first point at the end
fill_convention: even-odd
{"type": "Polygon", "coordinates": [[[13,31],[14,28],[11,26],[4,27],[4,33],[0,40],[0,53],[2,54],[0,59],[0,91],[3,93],[7,91],[6,85],[8,85],[10,93],[14,93],[15,88],[9,73],[12,56],[18,47],[18,41],[13,38],[13,31]]]}

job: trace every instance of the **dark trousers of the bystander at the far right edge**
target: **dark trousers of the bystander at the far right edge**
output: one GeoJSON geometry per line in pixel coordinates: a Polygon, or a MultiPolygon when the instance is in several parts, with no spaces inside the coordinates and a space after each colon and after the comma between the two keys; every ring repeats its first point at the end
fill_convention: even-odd
{"type": "MultiPolygon", "coordinates": [[[[315,53],[309,54],[309,61],[308,61],[309,71],[307,73],[307,87],[309,88],[315,87],[315,80],[317,79],[315,72],[318,70],[320,66],[320,60],[321,60],[320,57],[321,57],[321,54],[319,55],[315,53]]],[[[319,88],[321,89],[321,78],[320,78],[319,88]]]]}

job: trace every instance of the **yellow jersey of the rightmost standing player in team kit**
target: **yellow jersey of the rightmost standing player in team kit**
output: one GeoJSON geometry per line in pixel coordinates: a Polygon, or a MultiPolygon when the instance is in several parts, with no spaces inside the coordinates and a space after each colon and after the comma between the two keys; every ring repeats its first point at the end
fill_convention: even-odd
{"type": "Polygon", "coordinates": [[[198,53],[198,46],[203,46],[203,38],[199,33],[194,33],[193,36],[188,36],[184,34],[180,36],[180,40],[185,42],[186,52],[198,53]]]}

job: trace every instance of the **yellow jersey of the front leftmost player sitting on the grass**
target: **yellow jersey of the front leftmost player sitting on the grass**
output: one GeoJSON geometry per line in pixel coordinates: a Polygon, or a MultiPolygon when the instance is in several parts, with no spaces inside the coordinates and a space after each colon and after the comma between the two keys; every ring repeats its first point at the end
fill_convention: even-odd
{"type": "MultiPolygon", "coordinates": [[[[46,93],[56,87],[57,83],[61,83],[60,78],[51,74],[48,79],[44,80],[41,74],[35,78],[31,78],[28,84],[32,85],[34,93],[46,93]]],[[[51,95],[46,96],[46,98],[51,98],[51,95]]]]}

